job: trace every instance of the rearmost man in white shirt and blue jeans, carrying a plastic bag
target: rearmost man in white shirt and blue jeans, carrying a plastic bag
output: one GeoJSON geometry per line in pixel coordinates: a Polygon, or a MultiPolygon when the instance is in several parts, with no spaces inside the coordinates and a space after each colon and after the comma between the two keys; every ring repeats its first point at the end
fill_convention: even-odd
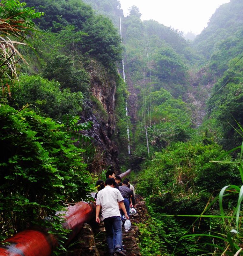
{"type": "Polygon", "coordinates": [[[123,255],[126,254],[122,251],[122,222],[119,206],[125,213],[127,219],[127,211],[124,205],[124,199],[120,191],[115,187],[115,180],[113,178],[108,178],[105,182],[106,187],[100,190],[97,194],[96,199],[96,222],[99,220],[99,211],[101,207],[101,214],[104,220],[106,237],[109,255],[123,255]],[[113,237],[115,240],[115,246],[113,242],[113,237]]]}

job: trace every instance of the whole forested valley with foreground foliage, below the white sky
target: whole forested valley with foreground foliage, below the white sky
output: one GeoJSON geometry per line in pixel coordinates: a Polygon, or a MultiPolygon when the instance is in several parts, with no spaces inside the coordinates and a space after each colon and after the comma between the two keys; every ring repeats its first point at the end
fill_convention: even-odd
{"type": "Polygon", "coordinates": [[[243,2],[193,42],[118,0],[25,2],[0,5],[1,239],[132,168],[142,256],[242,255],[243,2]]]}

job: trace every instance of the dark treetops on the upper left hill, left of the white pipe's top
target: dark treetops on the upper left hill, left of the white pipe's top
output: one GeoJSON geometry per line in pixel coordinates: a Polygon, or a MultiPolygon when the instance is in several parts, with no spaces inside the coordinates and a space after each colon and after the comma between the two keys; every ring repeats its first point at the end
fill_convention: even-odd
{"type": "Polygon", "coordinates": [[[41,3],[28,0],[26,3],[45,13],[37,21],[41,29],[61,33],[63,27],[72,25],[74,33],[73,38],[68,38],[70,41],[81,31],[83,40],[76,37],[79,40],[75,41],[81,54],[96,58],[112,69],[115,68],[114,62],[121,59],[122,47],[117,29],[108,18],[95,15],[90,6],[77,0],[45,0],[41,3]]]}

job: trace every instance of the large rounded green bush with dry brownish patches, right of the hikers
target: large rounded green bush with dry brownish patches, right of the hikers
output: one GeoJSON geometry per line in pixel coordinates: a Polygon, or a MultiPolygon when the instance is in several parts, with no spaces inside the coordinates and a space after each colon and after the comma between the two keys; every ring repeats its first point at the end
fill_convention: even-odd
{"type": "Polygon", "coordinates": [[[211,192],[239,182],[236,166],[209,163],[223,152],[216,144],[190,142],[156,152],[139,177],[138,193],[156,201],[162,212],[200,214],[211,192]]]}

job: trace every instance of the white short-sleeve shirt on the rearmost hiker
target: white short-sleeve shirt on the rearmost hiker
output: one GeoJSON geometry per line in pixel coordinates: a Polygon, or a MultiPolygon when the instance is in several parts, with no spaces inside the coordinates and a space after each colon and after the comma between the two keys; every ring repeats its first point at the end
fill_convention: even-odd
{"type": "Polygon", "coordinates": [[[97,194],[96,205],[101,205],[101,214],[103,219],[121,216],[118,202],[123,201],[121,192],[107,185],[97,194]]]}

